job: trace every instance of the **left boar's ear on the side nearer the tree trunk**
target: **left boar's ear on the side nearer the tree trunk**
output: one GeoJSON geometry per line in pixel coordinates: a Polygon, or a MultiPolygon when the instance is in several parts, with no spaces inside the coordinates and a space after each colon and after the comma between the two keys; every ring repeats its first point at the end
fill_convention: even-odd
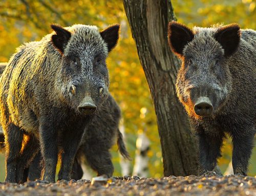
{"type": "Polygon", "coordinates": [[[120,25],[112,25],[100,32],[101,37],[108,45],[109,52],[116,46],[119,38],[120,25]]]}

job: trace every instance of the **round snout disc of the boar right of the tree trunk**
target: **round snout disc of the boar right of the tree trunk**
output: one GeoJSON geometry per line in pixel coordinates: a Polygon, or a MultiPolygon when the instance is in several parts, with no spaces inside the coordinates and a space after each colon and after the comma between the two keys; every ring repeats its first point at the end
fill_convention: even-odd
{"type": "Polygon", "coordinates": [[[199,98],[194,106],[194,111],[199,116],[208,116],[213,110],[214,107],[208,97],[199,98]]]}

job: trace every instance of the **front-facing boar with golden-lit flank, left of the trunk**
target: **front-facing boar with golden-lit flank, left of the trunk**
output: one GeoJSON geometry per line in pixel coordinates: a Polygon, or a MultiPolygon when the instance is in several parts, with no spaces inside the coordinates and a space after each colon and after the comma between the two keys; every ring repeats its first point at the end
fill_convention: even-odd
{"type": "Polygon", "coordinates": [[[84,130],[109,96],[105,59],[119,25],[101,32],[86,25],[51,27],[53,33],[19,47],[0,78],[7,182],[22,181],[39,146],[42,180],[55,182],[58,152],[58,180],[70,180],[84,130]]]}

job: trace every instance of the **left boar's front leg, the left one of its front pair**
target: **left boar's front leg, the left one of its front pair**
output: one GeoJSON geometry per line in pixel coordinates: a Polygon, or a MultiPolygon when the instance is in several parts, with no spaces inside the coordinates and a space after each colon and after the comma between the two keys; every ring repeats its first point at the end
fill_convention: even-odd
{"type": "Polygon", "coordinates": [[[43,121],[39,126],[40,148],[43,158],[42,180],[55,182],[58,161],[57,131],[50,120],[43,121]]]}

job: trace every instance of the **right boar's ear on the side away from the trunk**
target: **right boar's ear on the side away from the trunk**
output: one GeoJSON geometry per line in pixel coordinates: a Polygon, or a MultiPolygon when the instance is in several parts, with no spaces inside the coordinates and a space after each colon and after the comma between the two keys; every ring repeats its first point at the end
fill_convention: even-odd
{"type": "Polygon", "coordinates": [[[225,56],[233,54],[240,42],[240,27],[238,24],[230,24],[221,27],[215,34],[215,39],[221,44],[224,49],[225,56]]]}

